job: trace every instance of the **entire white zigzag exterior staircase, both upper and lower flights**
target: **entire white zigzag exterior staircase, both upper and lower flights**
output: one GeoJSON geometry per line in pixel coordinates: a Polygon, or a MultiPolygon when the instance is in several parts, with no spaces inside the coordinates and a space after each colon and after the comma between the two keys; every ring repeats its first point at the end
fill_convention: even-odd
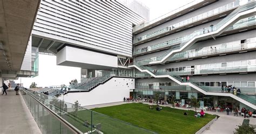
{"type": "MultiPolygon", "coordinates": [[[[225,23],[224,25],[222,25],[218,30],[210,32],[210,33],[206,33],[206,34],[201,34],[199,36],[193,37],[190,41],[188,41],[183,47],[181,47],[179,50],[174,50],[171,51],[169,54],[167,54],[163,59],[161,59],[160,61],[153,61],[150,62],[150,64],[164,64],[167,59],[169,57],[171,57],[171,55],[180,52],[182,50],[184,50],[186,47],[189,47],[191,45],[193,45],[194,43],[196,43],[197,40],[199,39],[203,39],[203,38],[208,38],[208,37],[214,37],[214,36],[218,36],[220,35],[223,31],[225,31],[225,29],[227,29],[230,25],[233,25],[235,22],[237,22],[239,19],[241,18],[246,18],[246,17],[250,17],[252,15],[254,15],[254,13],[256,12],[256,8],[255,8],[256,2],[250,2],[246,5],[240,6],[238,9],[234,10],[230,15],[228,15],[226,18],[230,18],[230,20],[227,21],[227,23],[225,23]],[[245,8],[245,9],[243,9],[245,8]]],[[[225,18],[224,18],[225,19],[225,18]]],[[[221,21],[222,22],[222,21],[221,21]]],[[[220,23],[221,23],[220,22],[220,23]]],[[[256,105],[244,100],[241,97],[235,96],[233,94],[230,93],[216,93],[216,92],[211,92],[211,91],[206,91],[203,88],[197,86],[196,84],[190,83],[190,82],[181,82],[180,80],[178,80],[175,76],[171,76],[171,75],[156,75],[157,73],[152,73],[150,72],[151,69],[150,67],[147,66],[141,66],[141,65],[131,65],[129,67],[135,67],[137,68],[140,72],[146,72],[148,74],[150,74],[153,77],[156,78],[162,78],[162,77],[168,77],[169,79],[171,79],[172,81],[183,85],[183,86],[190,86],[198,91],[200,91],[200,93],[203,93],[205,95],[215,95],[215,96],[229,96],[234,98],[235,100],[244,103],[246,105],[248,105],[248,107],[251,107],[253,109],[256,109],[256,105]]]]}

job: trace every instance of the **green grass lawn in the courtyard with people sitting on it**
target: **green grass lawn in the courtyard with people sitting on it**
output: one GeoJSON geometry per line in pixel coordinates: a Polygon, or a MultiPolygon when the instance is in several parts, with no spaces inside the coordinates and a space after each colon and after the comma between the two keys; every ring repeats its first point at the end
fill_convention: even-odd
{"type": "MultiPolygon", "coordinates": [[[[149,109],[147,104],[129,103],[92,110],[157,133],[195,133],[215,117],[206,114],[204,118],[195,118],[194,111],[191,110],[187,111],[188,116],[184,116],[185,110],[163,107],[161,111],[157,111],[155,107],[149,109]]],[[[79,115],[83,116],[82,111],[79,112],[79,115]]],[[[101,118],[98,118],[98,121],[97,117],[95,119],[98,123],[104,122],[100,121],[101,118]]],[[[116,124],[118,128],[122,126],[116,124]]],[[[122,129],[133,133],[129,127],[126,130],[122,129]]]]}

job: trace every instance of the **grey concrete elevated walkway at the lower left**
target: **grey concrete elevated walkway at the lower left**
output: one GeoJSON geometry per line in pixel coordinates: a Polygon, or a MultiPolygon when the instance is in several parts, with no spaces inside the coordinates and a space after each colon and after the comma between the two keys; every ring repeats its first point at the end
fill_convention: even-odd
{"type": "Polygon", "coordinates": [[[0,130],[4,134],[41,133],[22,96],[15,95],[13,89],[0,95],[0,130]]]}

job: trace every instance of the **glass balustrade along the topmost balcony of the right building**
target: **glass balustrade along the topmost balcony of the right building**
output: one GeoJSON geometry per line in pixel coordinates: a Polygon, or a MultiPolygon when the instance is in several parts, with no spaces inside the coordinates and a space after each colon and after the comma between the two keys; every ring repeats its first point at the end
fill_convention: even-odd
{"type": "Polygon", "coordinates": [[[150,34],[147,34],[143,37],[139,37],[137,38],[134,43],[138,43],[139,41],[143,41],[145,39],[149,39],[151,37],[154,37],[154,36],[157,36],[159,34],[162,34],[162,33],[165,33],[165,32],[168,32],[168,31],[171,31],[171,30],[176,30],[178,29],[179,27],[182,27],[184,25],[189,25],[189,24],[192,24],[194,22],[198,22],[202,19],[205,19],[205,18],[208,18],[208,17],[211,17],[211,16],[214,16],[214,15],[217,15],[221,12],[225,12],[227,10],[230,10],[232,8],[235,8],[239,5],[239,1],[235,1],[235,2],[232,2],[232,3],[228,3],[226,5],[223,5],[219,8],[216,8],[216,9],[213,9],[213,10],[210,10],[208,12],[205,12],[205,13],[202,13],[201,15],[198,15],[198,16],[194,16],[192,18],[189,18],[189,19],[186,19],[182,22],[179,22],[179,23],[176,23],[174,25],[171,25],[171,26],[168,26],[168,27],[165,27],[164,29],[160,29],[160,30],[157,30],[153,33],[150,33],[150,34]]]}

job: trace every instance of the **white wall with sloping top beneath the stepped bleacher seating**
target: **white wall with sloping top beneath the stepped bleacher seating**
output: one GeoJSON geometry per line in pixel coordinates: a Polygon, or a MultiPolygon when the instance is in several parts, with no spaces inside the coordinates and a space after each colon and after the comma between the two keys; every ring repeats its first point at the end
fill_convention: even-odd
{"type": "Polygon", "coordinates": [[[134,83],[131,78],[113,77],[90,92],[68,93],[59,99],[64,98],[69,103],[78,101],[82,106],[120,102],[124,97],[130,97],[130,89],[134,89],[134,83]]]}

